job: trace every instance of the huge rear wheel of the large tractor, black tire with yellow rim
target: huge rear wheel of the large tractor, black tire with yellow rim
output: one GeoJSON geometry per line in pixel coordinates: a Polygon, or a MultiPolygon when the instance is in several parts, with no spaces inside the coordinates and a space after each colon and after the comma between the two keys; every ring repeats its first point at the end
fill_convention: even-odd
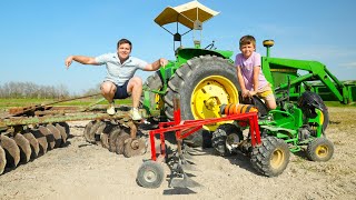
{"type": "MultiPolygon", "coordinates": [[[[164,98],[166,116],[174,120],[174,98],[179,97],[181,120],[219,118],[221,104],[238,103],[238,87],[236,68],[227,59],[194,58],[178,68],[168,82],[164,98]]],[[[211,146],[210,132],[222,123],[226,121],[204,126],[185,141],[192,147],[211,146]]]]}

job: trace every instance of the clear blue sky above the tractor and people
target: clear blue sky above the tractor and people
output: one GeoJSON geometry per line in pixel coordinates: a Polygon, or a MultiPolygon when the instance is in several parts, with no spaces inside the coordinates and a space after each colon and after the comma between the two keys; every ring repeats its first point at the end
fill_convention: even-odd
{"type": "MultiPolygon", "coordinates": [[[[63,84],[80,93],[100,83],[106,69],[73,63],[66,70],[65,59],[115,52],[121,38],[132,41],[131,56],[148,62],[160,57],[174,60],[172,36],[154,19],[166,7],[186,2],[189,0],[2,0],[0,84],[63,84]]],[[[238,39],[253,34],[263,56],[263,40],[273,39],[273,57],[317,60],[340,80],[356,79],[355,0],[199,2],[220,12],[204,23],[202,47],[215,40],[218,49],[236,54],[238,39]]],[[[182,38],[182,44],[192,47],[191,33],[182,38]]],[[[146,79],[151,73],[136,74],[146,79]]]]}

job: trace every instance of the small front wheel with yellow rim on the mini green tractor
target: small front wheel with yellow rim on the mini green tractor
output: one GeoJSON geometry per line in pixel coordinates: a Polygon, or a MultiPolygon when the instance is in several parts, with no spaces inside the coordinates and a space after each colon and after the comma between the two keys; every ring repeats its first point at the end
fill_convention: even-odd
{"type": "Polygon", "coordinates": [[[334,144],[325,137],[315,138],[308,143],[307,157],[312,161],[325,162],[330,160],[334,154],[334,144]]]}

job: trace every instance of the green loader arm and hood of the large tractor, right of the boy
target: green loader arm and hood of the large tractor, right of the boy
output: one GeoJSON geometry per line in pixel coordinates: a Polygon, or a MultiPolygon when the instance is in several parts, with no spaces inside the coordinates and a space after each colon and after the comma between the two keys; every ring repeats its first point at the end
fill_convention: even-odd
{"type": "MultiPolygon", "coordinates": [[[[290,97],[299,97],[305,90],[315,90],[319,93],[320,87],[326,87],[328,92],[324,100],[338,100],[342,103],[353,102],[352,91],[356,86],[345,86],[327,70],[326,66],[317,61],[293,60],[280,58],[261,58],[263,72],[275,90],[288,88],[287,77],[290,78],[290,97]],[[303,74],[299,74],[303,72],[303,74]],[[310,81],[320,81],[324,86],[316,86],[310,81]],[[301,83],[304,87],[301,87],[301,83]],[[333,94],[334,98],[328,97],[333,94]]],[[[355,96],[355,94],[354,94],[355,96]]]]}

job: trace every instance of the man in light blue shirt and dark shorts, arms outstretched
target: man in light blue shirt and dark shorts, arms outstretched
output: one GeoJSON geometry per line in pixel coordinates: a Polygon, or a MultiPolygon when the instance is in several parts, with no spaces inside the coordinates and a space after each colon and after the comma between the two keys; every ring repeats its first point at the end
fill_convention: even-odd
{"type": "Polygon", "coordinates": [[[152,63],[131,57],[132,43],[127,39],[121,39],[117,44],[116,53],[106,53],[99,57],[69,56],[66,59],[67,69],[72,61],[82,64],[95,64],[107,67],[107,77],[101,83],[101,93],[108,100],[109,107],[107,112],[115,114],[113,99],[126,99],[132,97],[132,110],[130,111],[132,120],[141,120],[142,117],[138,112],[139,100],[142,93],[142,80],[134,77],[137,69],[145,71],[156,71],[160,67],[165,67],[168,61],[164,58],[152,63]]]}

